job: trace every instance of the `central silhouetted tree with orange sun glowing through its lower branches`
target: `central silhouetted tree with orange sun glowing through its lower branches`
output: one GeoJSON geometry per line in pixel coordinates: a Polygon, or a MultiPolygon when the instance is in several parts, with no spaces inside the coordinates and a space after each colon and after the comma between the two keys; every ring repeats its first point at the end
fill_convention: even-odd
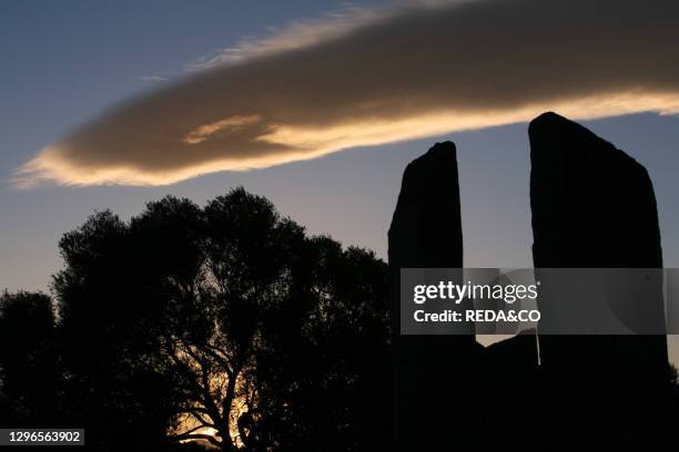
{"type": "MultiPolygon", "coordinates": [[[[148,259],[161,258],[146,266],[158,270],[151,286],[164,300],[161,351],[183,396],[172,438],[234,450],[252,429],[241,421],[239,430],[239,421],[256,403],[251,369],[263,346],[263,320],[286,300],[304,233],[243,189],[210,202],[203,222],[189,212],[197,214],[190,202],[165,198],[134,218],[132,232],[148,259]],[[162,249],[175,246],[178,253],[164,256],[162,249]]],[[[259,419],[253,411],[247,417],[259,419]]]]}

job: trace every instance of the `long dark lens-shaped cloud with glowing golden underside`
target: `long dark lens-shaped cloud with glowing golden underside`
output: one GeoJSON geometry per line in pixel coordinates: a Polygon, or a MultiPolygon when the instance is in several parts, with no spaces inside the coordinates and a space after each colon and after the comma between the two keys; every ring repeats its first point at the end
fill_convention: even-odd
{"type": "Polygon", "coordinates": [[[16,183],[162,185],[453,131],[679,112],[679,2],[354,9],[246,42],[41,150],[16,183]]]}

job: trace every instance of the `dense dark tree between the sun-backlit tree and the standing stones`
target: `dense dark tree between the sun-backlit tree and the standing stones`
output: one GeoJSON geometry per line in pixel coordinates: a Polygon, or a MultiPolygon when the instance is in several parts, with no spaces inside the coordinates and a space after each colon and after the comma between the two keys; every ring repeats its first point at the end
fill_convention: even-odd
{"type": "Polygon", "coordinates": [[[386,264],[328,237],[308,240],[302,260],[291,294],[296,309],[271,312],[264,330],[270,347],[256,368],[259,409],[270,413],[281,450],[384,450],[391,440],[386,264]]]}

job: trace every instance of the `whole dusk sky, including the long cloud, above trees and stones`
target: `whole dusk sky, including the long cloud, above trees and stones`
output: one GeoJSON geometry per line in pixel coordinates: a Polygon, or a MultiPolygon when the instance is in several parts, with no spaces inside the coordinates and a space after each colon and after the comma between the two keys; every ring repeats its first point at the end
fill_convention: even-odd
{"type": "MultiPolygon", "coordinates": [[[[578,22],[578,39],[564,39],[572,34],[564,29],[531,28],[530,20],[521,25],[529,34],[511,34],[503,29],[507,14],[478,22],[487,38],[472,25],[449,37],[442,30],[484,12],[475,9],[479,2],[458,3],[468,7],[462,19],[455,11],[420,11],[420,2],[413,12],[412,2],[388,1],[0,0],[0,288],[48,290],[62,265],[59,238],[94,212],[111,208],[129,218],[168,194],[204,204],[237,185],[268,197],[313,234],[386,258],[402,172],[443,140],[458,147],[465,266],[530,267],[526,121],[551,109],[585,119],[648,168],[665,264],[679,267],[679,78],[677,59],[668,59],[677,41],[662,14],[630,8],[627,16],[599,20],[611,33],[629,34],[607,34],[625,45],[604,52],[588,45],[587,39],[601,39],[587,31],[587,21],[578,22]],[[534,40],[519,45],[546,30],[560,45],[554,69],[545,64],[548,47],[530,47],[534,40]],[[639,35],[648,45],[631,41],[639,35]],[[467,51],[470,39],[474,52],[467,51]],[[352,68],[363,66],[351,59],[328,63],[345,54],[375,66],[357,71],[352,68]],[[418,71],[395,65],[404,54],[422,63],[418,71]],[[577,63],[569,72],[577,83],[558,76],[568,55],[577,63]],[[304,71],[290,70],[293,62],[304,71]],[[513,90],[513,81],[529,75],[539,79],[513,90]],[[277,76],[283,88],[271,84],[277,76]],[[310,80],[323,89],[311,90],[310,80]],[[224,81],[239,90],[220,91],[224,81]],[[460,88],[450,93],[447,86],[460,88]],[[403,90],[411,101],[424,101],[399,103],[403,90]],[[215,101],[203,112],[196,96],[215,101]],[[227,102],[230,96],[237,99],[227,102]],[[327,106],[331,99],[336,111],[327,106]],[[129,120],[135,114],[170,126],[149,132],[129,120]],[[126,151],[107,148],[105,136],[126,151]],[[165,138],[174,144],[155,147],[165,138]],[[247,152],[239,153],[240,146],[247,152]]],[[[516,20],[537,4],[501,3],[518,6],[516,20]]],[[[554,14],[581,20],[568,11],[554,14]]],[[[678,361],[677,348],[672,353],[678,361]]]]}

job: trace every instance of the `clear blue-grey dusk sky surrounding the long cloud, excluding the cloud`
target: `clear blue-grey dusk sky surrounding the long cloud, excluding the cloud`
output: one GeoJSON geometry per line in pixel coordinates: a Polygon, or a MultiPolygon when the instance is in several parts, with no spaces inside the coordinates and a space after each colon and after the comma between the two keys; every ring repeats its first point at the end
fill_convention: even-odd
{"type": "MultiPolygon", "coordinates": [[[[362,6],[385,2],[366,3],[362,6]]],[[[341,1],[0,0],[0,288],[47,290],[61,266],[60,236],[97,210],[129,218],[166,194],[206,199],[243,185],[312,233],[386,257],[405,165],[435,141],[458,146],[467,267],[530,267],[526,123],[460,132],[161,187],[40,186],[19,189],[12,172],[72,127],[122,99],[178,78],[200,58],[266,37],[341,1]]],[[[584,124],[653,179],[666,267],[679,267],[679,117],[634,114],[584,124]]],[[[676,350],[675,350],[676,351],[676,350]]],[[[677,357],[675,357],[677,361],[677,357]]]]}

